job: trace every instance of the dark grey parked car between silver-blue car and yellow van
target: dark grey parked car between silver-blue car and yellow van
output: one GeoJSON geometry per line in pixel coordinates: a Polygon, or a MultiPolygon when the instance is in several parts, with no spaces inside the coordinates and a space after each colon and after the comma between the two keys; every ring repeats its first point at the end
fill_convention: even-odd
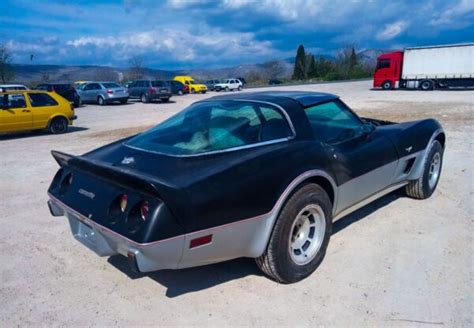
{"type": "Polygon", "coordinates": [[[140,99],[142,103],[155,100],[168,102],[172,96],[171,87],[166,81],[139,80],[134,81],[129,87],[130,98],[140,99]]]}

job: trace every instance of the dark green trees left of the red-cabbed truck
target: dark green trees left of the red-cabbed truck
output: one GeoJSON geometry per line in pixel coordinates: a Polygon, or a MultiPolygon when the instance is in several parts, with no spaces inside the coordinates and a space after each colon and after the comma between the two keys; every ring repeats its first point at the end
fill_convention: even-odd
{"type": "Polygon", "coordinates": [[[357,58],[354,47],[339,51],[335,60],[307,53],[303,45],[296,51],[293,80],[349,80],[369,77],[373,68],[357,58]]]}

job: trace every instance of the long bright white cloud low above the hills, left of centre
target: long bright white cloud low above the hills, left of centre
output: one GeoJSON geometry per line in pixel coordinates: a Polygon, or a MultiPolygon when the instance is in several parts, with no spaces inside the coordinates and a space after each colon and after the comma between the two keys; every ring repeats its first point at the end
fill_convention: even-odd
{"type": "Polygon", "coordinates": [[[181,62],[227,61],[245,56],[266,59],[279,54],[270,41],[259,41],[253,33],[208,29],[196,34],[191,28],[160,29],[119,36],[84,36],[69,40],[66,45],[89,52],[113,53],[115,59],[121,60],[135,54],[181,62]]]}

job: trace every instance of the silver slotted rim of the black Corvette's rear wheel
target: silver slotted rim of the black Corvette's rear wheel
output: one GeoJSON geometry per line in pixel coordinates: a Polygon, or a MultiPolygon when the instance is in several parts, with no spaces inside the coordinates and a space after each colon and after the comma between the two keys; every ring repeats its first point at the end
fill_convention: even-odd
{"type": "Polygon", "coordinates": [[[321,206],[310,204],[296,216],[290,230],[290,257],[297,265],[311,262],[323,244],[326,218],[321,206]]]}

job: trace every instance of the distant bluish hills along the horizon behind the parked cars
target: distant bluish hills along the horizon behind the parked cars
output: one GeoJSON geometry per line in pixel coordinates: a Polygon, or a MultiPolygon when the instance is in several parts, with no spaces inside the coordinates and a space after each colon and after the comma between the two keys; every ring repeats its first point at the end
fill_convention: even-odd
{"type": "MultiPolygon", "coordinates": [[[[368,49],[357,54],[359,60],[367,65],[374,65],[381,53],[386,52],[380,49],[368,49]]],[[[332,56],[324,56],[329,60],[334,60],[332,56]]],[[[198,80],[210,78],[223,79],[228,77],[251,76],[256,80],[266,80],[269,78],[290,78],[293,73],[294,58],[274,60],[256,64],[242,64],[234,67],[213,68],[213,69],[189,69],[189,70],[159,70],[146,68],[144,74],[146,78],[172,79],[175,75],[191,75],[198,80]]],[[[16,74],[16,82],[34,83],[41,81],[51,82],[73,82],[80,80],[112,80],[121,81],[127,79],[127,68],[93,66],[93,65],[13,65],[16,74]]]]}

